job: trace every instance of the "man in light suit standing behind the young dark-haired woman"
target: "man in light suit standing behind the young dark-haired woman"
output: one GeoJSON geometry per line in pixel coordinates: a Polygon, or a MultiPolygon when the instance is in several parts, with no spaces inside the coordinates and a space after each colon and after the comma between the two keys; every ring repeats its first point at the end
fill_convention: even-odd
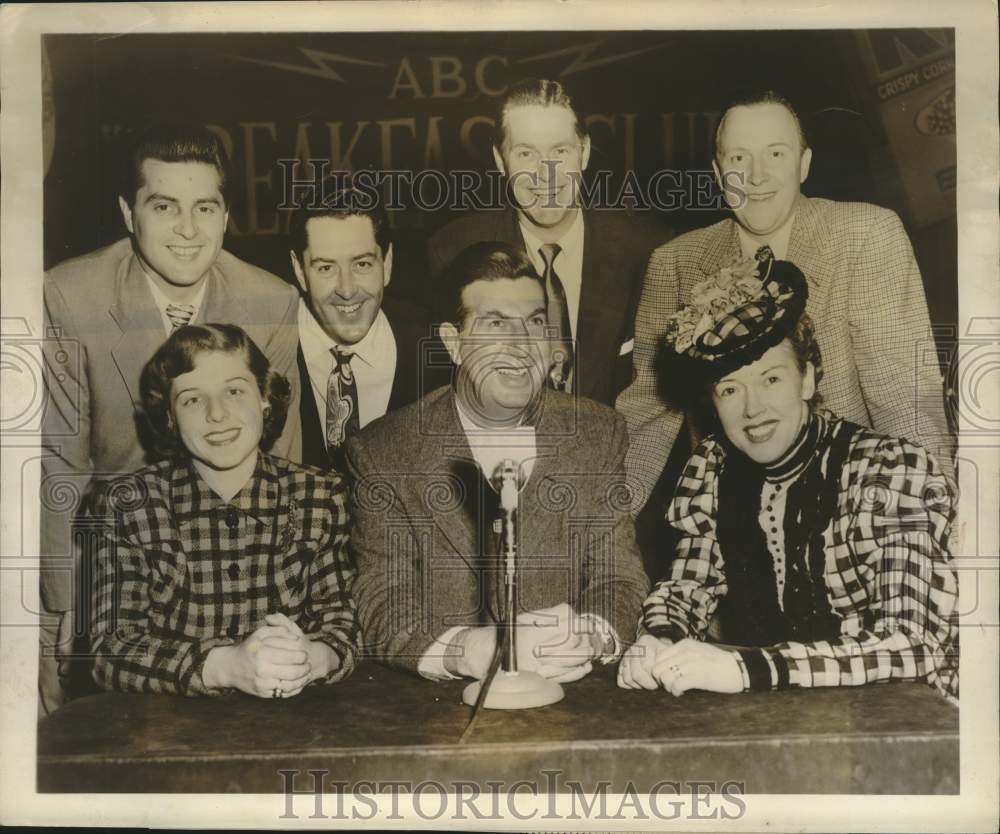
{"type": "MultiPolygon", "coordinates": [[[[45,276],[39,680],[45,712],[65,697],[55,652],[65,655],[86,624],[82,613],[80,622],[73,618],[81,565],[73,525],[85,531],[102,484],[148,462],[137,419],[139,376],[169,333],[190,322],[238,322],[289,378],[297,407],[296,292],[222,249],[226,169],[221,143],[205,128],[150,128],[124,161],[119,205],[129,237],[45,276]]],[[[295,459],[298,445],[289,427],[274,451],[295,459]]]]}

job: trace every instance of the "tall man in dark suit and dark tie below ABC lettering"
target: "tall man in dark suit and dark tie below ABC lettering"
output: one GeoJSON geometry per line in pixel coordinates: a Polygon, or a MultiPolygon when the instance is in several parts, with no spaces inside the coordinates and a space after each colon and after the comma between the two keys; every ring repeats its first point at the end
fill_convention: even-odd
{"type": "Polygon", "coordinates": [[[496,116],[493,156],[512,205],[480,211],[439,230],[429,245],[436,280],[455,255],[480,240],[510,243],[546,279],[549,324],[570,343],[559,384],[613,405],[631,379],[633,321],[649,254],[667,234],[623,211],[580,206],[590,137],[557,81],[510,88],[496,116]]]}

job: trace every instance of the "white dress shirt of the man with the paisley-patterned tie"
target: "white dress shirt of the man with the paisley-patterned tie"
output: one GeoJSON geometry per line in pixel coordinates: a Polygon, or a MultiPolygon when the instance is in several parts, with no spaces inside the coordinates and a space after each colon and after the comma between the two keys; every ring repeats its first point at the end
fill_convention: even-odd
{"type": "Polygon", "coordinates": [[[358,389],[358,421],[361,428],[385,414],[396,377],[396,339],[385,313],[379,310],[364,338],[346,346],[338,345],[327,335],[301,299],[298,317],[299,344],[306,360],[323,437],[326,437],[326,390],[334,365],[330,352],[332,348],[342,347],[354,354],[351,370],[358,389]]]}

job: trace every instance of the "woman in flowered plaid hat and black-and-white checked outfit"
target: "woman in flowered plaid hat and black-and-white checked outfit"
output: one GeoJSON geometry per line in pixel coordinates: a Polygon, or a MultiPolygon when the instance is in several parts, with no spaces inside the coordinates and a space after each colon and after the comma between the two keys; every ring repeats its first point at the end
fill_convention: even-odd
{"type": "Polygon", "coordinates": [[[807,295],[798,268],[765,250],[706,279],[668,322],[664,380],[689,407],[710,400],[721,432],[667,511],[683,538],[622,687],[925,679],[957,697],[953,487],[920,446],[817,410],[807,295]],[[710,623],[729,645],[705,642],[710,623]]]}

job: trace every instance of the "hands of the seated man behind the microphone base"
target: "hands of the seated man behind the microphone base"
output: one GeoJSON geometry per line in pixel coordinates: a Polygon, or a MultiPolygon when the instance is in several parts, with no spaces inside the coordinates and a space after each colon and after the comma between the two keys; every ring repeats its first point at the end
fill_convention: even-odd
{"type": "MultiPolygon", "coordinates": [[[[467,628],[453,638],[444,667],[453,675],[482,679],[496,651],[493,626],[467,628]]],[[[601,656],[603,640],[568,603],[528,611],[517,618],[517,668],[559,683],[579,680],[601,656]]]]}

